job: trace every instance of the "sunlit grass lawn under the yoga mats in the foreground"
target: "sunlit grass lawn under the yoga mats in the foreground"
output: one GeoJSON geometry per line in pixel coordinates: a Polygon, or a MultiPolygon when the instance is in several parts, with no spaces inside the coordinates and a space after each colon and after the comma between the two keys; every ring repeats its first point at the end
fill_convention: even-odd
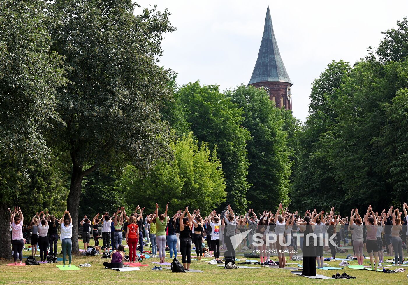
{"type": "MultiPolygon", "coordinates": [[[[93,240],[92,240],[93,242],[93,240]]],[[[81,243],[80,243],[81,245],[81,243]]],[[[27,245],[26,245],[27,246],[27,245]]],[[[83,246],[83,244],[82,244],[83,246]]],[[[83,247],[82,247],[83,248],[83,247]]],[[[61,245],[58,244],[58,251],[61,251],[61,245]]],[[[169,252],[166,252],[169,257],[169,252]]],[[[349,252],[350,253],[350,250],[349,252]]],[[[353,251],[351,250],[353,254],[353,251]]],[[[23,251],[24,256],[31,255],[31,251],[23,251]]],[[[239,254],[239,253],[238,253],[239,254]]],[[[62,255],[58,255],[61,257],[62,255]]],[[[195,254],[192,254],[194,258],[195,254]]],[[[346,254],[339,254],[337,257],[345,258],[346,254]]],[[[242,258],[237,256],[237,258],[242,258]]],[[[39,258],[37,258],[39,260],[39,258]]],[[[253,258],[251,258],[253,259],[253,258]]],[[[276,259],[276,258],[273,258],[276,259]]],[[[387,258],[384,258],[387,259],[387,258]]],[[[24,263],[23,259],[23,263],[24,263]]],[[[140,270],[133,272],[116,272],[110,269],[104,269],[102,263],[109,261],[101,259],[100,256],[73,256],[73,265],[90,263],[92,267],[84,267],[81,270],[60,271],[56,265],[62,265],[62,262],[56,264],[40,264],[37,266],[14,267],[6,266],[10,263],[8,260],[0,260],[0,284],[99,284],[99,285],[118,285],[118,284],[166,284],[166,282],[176,282],[177,284],[407,284],[408,272],[395,274],[385,274],[383,272],[372,272],[368,270],[357,270],[344,268],[342,270],[317,270],[317,274],[332,276],[339,272],[346,272],[356,279],[349,280],[319,280],[306,277],[295,276],[286,269],[271,269],[261,267],[259,269],[231,269],[226,270],[222,267],[209,265],[204,261],[192,261],[191,268],[200,269],[203,273],[173,273],[171,270],[162,271],[151,270],[156,264],[151,261],[159,261],[158,258],[146,259],[143,263],[149,264],[146,267],[140,267],[140,270]]],[[[170,259],[166,260],[171,262],[170,259]]],[[[181,258],[180,258],[181,261],[181,258]]],[[[294,261],[288,261],[295,263],[294,261]]],[[[338,267],[339,260],[327,262],[331,267],[338,267]]],[[[299,262],[302,264],[302,261],[299,262]]],[[[350,265],[357,265],[357,261],[350,261],[350,265]]],[[[366,265],[369,265],[368,263],[366,265]]],[[[251,266],[251,265],[250,265],[251,266]]],[[[256,267],[257,265],[252,265],[256,267]]],[[[296,267],[296,265],[288,265],[296,267]]],[[[396,268],[396,267],[393,267],[396,268]]],[[[405,267],[408,269],[408,267],[405,267]]]]}

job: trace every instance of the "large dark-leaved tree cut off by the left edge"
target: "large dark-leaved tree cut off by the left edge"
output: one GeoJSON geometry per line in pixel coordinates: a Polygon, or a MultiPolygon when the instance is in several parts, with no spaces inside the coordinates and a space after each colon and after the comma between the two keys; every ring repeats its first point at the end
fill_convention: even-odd
{"type": "Polygon", "coordinates": [[[29,183],[28,165],[46,164],[42,128],[58,120],[53,108],[65,84],[44,9],[40,0],[0,2],[0,258],[11,258],[7,206],[29,183]]]}

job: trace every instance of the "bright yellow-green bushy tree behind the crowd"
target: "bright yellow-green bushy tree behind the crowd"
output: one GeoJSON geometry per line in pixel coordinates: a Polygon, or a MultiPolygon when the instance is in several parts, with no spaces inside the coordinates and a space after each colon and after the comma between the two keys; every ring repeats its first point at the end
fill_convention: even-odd
{"type": "Polygon", "coordinates": [[[207,143],[199,144],[193,134],[180,137],[171,144],[174,160],[161,160],[147,176],[134,166],[127,166],[120,180],[120,188],[132,209],[146,206],[146,214],[153,213],[155,203],[164,206],[169,202],[169,215],[186,205],[209,213],[225,201],[224,173],[217,151],[207,143]]]}

